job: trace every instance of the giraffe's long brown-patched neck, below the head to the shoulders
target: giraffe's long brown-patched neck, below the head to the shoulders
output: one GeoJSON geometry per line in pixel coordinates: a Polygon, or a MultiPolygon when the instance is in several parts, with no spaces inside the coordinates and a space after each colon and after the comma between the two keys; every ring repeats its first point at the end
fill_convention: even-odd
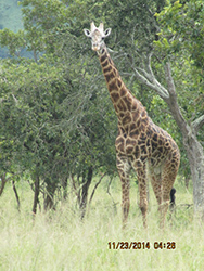
{"type": "Polygon", "coordinates": [[[99,59],[116,115],[118,120],[122,120],[125,116],[132,115],[142,105],[125,86],[106,48],[102,49],[99,59]]]}

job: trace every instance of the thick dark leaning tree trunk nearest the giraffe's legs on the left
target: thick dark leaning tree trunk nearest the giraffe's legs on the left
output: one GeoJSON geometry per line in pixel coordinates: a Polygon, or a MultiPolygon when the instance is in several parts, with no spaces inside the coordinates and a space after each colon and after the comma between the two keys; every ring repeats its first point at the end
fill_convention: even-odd
{"type": "Polygon", "coordinates": [[[89,190],[89,186],[91,184],[92,175],[93,175],[93,168],[89,167],[88,175],[87,175],[87,181],[82,185],[82,194],[81,194],[81,202],[80,202],[81,219],[84,219],[86,208],[87,208],[88,190],[89,190]]]}

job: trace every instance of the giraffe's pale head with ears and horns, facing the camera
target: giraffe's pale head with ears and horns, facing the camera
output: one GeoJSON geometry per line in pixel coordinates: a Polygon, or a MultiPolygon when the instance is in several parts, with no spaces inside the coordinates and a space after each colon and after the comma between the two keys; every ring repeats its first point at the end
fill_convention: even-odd
{"type": "Polygon", "coordinates": [[[87,37],[91,39],[92,50],[98,52],[98,54],[100,54],[102,52],[102,49],[105,47],[104,38],[110,36],[111,28],[104,30],[103,23],[101,23],[99,27],[97,27],[92,22],[91,30],[84,29],[84,33],[87,37]]]}

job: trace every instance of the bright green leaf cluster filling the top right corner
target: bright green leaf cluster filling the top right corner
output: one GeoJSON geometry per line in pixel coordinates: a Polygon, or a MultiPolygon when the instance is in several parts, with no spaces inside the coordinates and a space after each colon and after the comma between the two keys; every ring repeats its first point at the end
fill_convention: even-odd
{"type": "MultiPolygon", "coordinates": [[[[184,4],[176,1],[156,14],[164,26],[163,34],[168,34],[173,52],[188,50],[191,60],[199,68],[204,69],[204,5],[201,0],[190,0],[184,4]],[[171,36],[171,37],[170,37],[171,36]]],[[[161,33],[162,34],[162,33],[161,33]]],[[[163,37],[163,41],[166,40],[163,37]]],[[[166,40],[166,43],[167,40],[166,40]]]]}

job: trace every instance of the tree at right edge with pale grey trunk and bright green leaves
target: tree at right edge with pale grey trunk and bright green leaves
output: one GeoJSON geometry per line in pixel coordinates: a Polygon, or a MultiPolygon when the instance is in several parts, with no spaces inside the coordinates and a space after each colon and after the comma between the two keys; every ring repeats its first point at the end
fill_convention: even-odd
{"type": "MultiPolygon", "coordinates": [[[[190,162],[191,177],[193,181],[193,201],[195,214],[204,218],[204,150],[199,141],[201,129],[204,125],[204,111],[202,98],[204,95],[204,4],[203,1],[190,0],[184,4],[179,1],[169,4],[161,14],[157,15],[161,23],[161,39],[156,46],[162,49],[166,62],[166,75],[168,91],[170,90],[175,99],[168,106],[171,108],[173,116],[177,121],[183,137],[183,146],[190,162]],[[170,55],[171,53],[171,55],[170,55]],[[197,111],[190,109],[189,101],[186,101],[186,117],[179,109],[176,99],[176,87],[171,76],[169,61],[176,60],[177,63],[182,59],[184,63],[183,74],[188,75],[184,90],[189,91],[191,104],[196,104],[197,111]],[[192,90],[194,90],[194,93],[192,90]],[[193,98],[193,95],[195,96],[193,98]],[[194,100],[194,101],[193,101],[194,100]],[[188,120],[186,120],[188,119],[188,120]]],[[[174,69],[173,69],[174,70],[174,69]]],[[[184,78],[183,78],[184,79],[184,78]]],[[[179,91],[180,92],[180,91],[179,91]]],[[[165,100],[165,99],[164,99],[165,100]]],[[[169,103],[167,101],[167,103],[169,103]]],[[[201,132],[202,133],[202,132],[201,132]]]]}

